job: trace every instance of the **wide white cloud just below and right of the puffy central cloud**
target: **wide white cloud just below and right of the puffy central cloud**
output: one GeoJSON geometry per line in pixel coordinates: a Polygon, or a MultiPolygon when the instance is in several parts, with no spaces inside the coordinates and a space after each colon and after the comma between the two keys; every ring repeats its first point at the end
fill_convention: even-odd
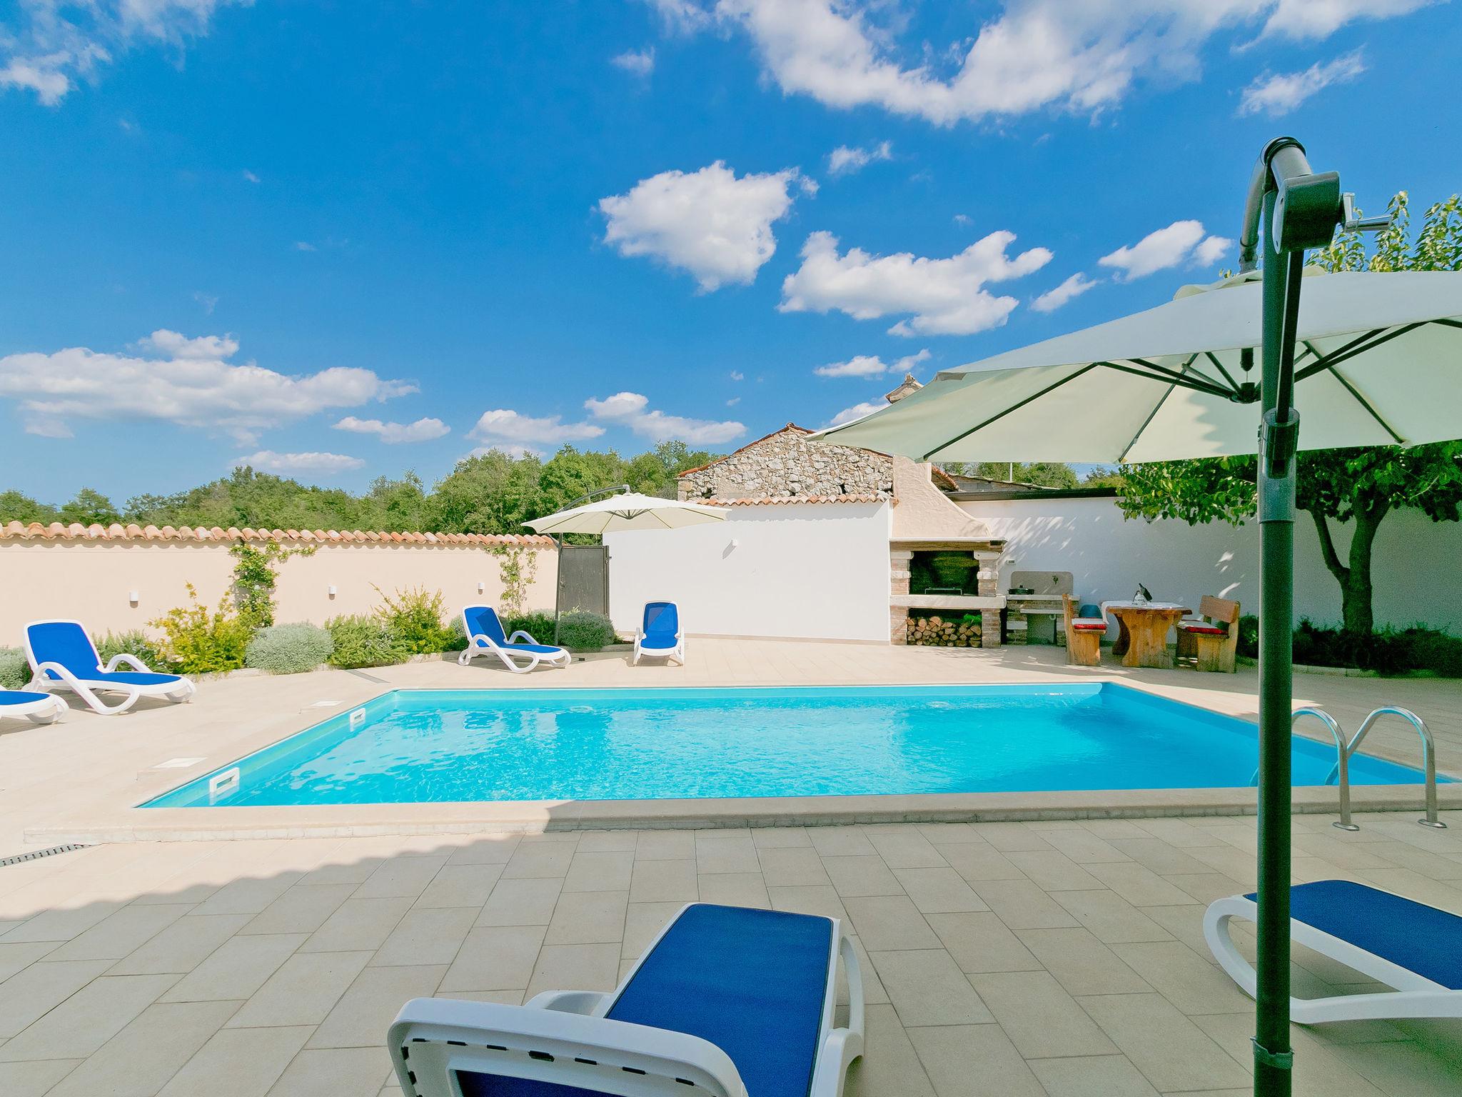
{"type": "Polygon", "coordinates": [[[803,265],[782,281],[782,312],[830,309],[858,320],[914,313],[893,335],[972,335],[999,328],[1015,309],[1013,297],[996,297],[987,282],[1003,282],[1038,271],[1051,260],[1044,247],[1010,259],[1015,233],[991,233],[949,259],[908,252],[873,256],[860,247],[838,253],[838,237],[813,233],[803,244],[803,265]]]}

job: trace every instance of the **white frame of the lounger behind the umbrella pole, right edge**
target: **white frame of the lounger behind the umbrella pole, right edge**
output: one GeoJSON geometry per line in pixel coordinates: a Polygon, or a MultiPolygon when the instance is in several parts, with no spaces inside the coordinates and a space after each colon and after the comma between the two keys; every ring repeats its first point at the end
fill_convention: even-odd
{"type": "MultiPolygon", "coordinates": [[[[1240,989],[1254,996],[1254,968],[1234,946],[1228,923],[1231,919],[1254,921],[1259,908],[1253,900],[1232,895],[1215,900],[1203,916],[1203,936],[1213,958],[1238,983],[1240,989]]],[[[1462,1017],[1462,990],[1452,990],[1415,971],[1392,964],[1389,960],[1367,952],[1363,948],[1330,936],[1298,919],[1289,920],[1289,936],[1295,943],[1311,948],[1377,983],[1395,990],[1374,995],[1344,995],[1339,998],[1291,998],[1289,1018],[1297,1024],[1313,1025],[1326,1021],[1367,1021],[1404,1017],[1462,1017]]]]}

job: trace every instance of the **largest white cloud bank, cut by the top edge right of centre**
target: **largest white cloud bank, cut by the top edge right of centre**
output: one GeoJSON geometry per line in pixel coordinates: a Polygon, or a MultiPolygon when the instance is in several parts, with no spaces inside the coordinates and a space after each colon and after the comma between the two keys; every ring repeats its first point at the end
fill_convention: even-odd
{"type": "Polygon", "coordinates": [[[1096,114],[1139,79],[1199,79],[1221,32],[1323,38],[1434,0],[1003,0],[999,13],[965,6],[965,37],[950,45],[906,51],[906,18],[887,0],[651,1],[681,32],[712,18],[743,31],[784,94],[949,126],[1037,110],[1096,114]]]}

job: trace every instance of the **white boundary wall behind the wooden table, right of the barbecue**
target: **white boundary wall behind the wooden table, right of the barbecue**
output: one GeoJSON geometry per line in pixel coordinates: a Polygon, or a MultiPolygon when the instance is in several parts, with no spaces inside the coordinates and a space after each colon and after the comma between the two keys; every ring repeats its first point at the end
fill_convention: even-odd
{"type": "MultiPolygon", "coordinates": [[[[1007,541],[1000,589],[1012,570],[1072,572],[1082,601],[1130,598],[1146,584],[1155,598],[1197,610],[1205,594],[1237,598],[1259,611],[1259,524],[1124,521],[1111,499],[963,500],[961,506],[1007,541]]],[[[1330,522],[1345,559],[1352,524],[1330,522]]],[[[1373,547],[1376,623],[1415,623],[1462,632],[1462,522],[1431,522],[1395,510],[1373,547]]],[[[1341,587],[1320,559],[1308,513],[1295,515],[1295,620],[1338,623],[1341,587]]]]}

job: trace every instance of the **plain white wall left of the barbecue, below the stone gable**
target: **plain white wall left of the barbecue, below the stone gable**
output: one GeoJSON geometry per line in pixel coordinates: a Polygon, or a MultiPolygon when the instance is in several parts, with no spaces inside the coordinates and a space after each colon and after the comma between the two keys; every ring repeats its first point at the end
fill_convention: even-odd
{"type": "Polygon", "coordinates": [[[610,616],[630,635],[645,603],[674,601],[690,635],[886,644],[889,510],[768,503],[730,508],[724,522],[607,534],[610,616]]]}

